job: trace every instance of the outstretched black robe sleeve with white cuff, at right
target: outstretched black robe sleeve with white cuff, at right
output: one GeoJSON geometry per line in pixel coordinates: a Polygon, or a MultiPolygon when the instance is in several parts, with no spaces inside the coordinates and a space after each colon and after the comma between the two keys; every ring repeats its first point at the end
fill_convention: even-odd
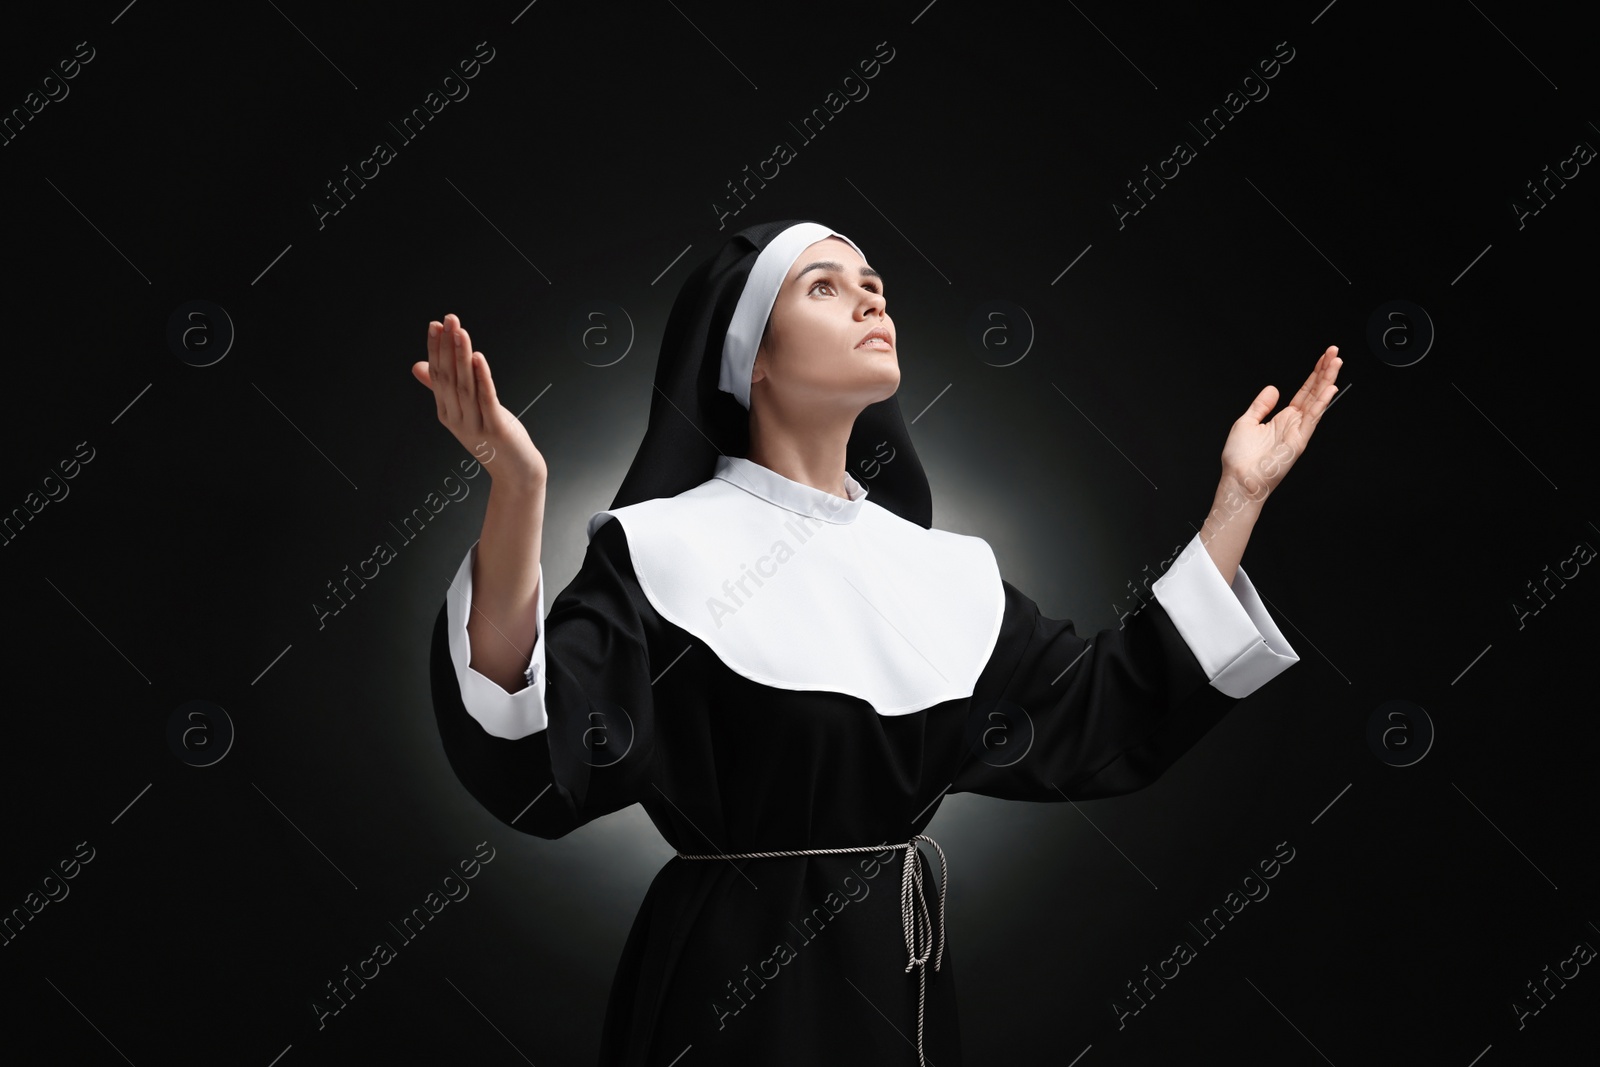
{"type": "Polygon", "coordinates": [[[1053,801],[1130,793],[1298,662],[1243,568],[1229,585],[1198,541],[1179,561],[1120,629],[1091,640],[1002,581],[1000,637],[949,792],[1053,801]]]}

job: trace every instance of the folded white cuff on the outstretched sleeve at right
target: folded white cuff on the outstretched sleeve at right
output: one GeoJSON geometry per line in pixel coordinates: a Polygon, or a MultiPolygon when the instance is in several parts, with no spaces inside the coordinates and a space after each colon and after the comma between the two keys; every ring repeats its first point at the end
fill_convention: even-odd
{"type": "Polygon", "coordinates": [[[1227,696],[1250,696],[1299,662],[1261,605],[1245,568],[1234,571],[1232,585],[1224,582],[1200,534],[1190,537],[1150,592],[1171,616],[1206,678],[1227,696]]]}

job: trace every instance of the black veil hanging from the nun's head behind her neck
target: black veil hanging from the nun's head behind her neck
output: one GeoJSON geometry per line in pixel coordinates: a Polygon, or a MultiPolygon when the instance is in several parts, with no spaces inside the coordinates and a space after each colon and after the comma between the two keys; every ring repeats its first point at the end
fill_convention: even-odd
{"type": "MultiPolygon", "coordinates": [[[[710,478],[718,454],[749,454],[750,413],[733,394],[717,387],[722,344],[755,258],[774,237],[806,221],[746,227],[690,274],[662,333],[650,424],[611,509],[677,496],[710,478]]],[[[867,480],[858,472],[874,470],[867,486],[874,504],[923,530],[933,526],[928,475],[912,448],[899,394],[856,416],[845,448],[845,469],[864,485],[867,480]],[[891,454],[883,446],[893,450],[893,462],[872,464],[891,454]]]]}

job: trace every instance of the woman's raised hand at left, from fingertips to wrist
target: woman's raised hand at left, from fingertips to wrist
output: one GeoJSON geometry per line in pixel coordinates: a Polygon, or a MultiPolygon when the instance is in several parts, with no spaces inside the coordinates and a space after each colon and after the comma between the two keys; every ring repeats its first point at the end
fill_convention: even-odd
{"type": "Polygon", "coordinates": [[[411,365],[411,374],[434,392],[438,421],[456,435],[491,478],[517,486],[544,486],[549,470],[533,446],[522,419],[507,411],[494,394],[490,362],[472,350],[461,318],[427,325],[427,360],[411,365]]]}

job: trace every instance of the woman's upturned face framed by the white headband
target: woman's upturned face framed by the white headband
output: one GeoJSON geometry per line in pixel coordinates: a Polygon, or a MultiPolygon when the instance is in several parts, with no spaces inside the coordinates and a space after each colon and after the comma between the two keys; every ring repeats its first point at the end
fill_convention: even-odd
{"type": "Polygon", "coordinates": [[[899,389],[894,322],[883,278],[850,243],[808,246],[784,278],[750,373],[750,405],[781,392],[782,405],[866,408],[899,389]],[[874,331],[886,339],[862,341],[874,331]]]}

